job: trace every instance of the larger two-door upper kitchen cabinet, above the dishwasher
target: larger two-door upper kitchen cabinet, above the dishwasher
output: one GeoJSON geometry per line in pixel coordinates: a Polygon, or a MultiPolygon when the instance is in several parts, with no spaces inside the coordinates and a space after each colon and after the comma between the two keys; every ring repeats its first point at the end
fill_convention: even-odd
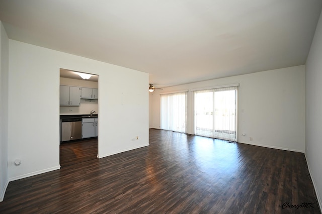
{"type": "Polygon", "coordinates": [[[81,104],[81,88],[67,85],[59,87],[59,104],[78,106],[81,104]]]}

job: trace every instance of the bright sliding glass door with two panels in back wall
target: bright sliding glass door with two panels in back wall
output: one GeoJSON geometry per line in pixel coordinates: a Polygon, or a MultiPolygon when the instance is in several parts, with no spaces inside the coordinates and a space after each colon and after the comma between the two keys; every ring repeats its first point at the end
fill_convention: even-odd
{"type": "Polygon", "coordinates": [[[237,87],[195,91],[194,103],[196,135],[237,141],[237,87]]]}

